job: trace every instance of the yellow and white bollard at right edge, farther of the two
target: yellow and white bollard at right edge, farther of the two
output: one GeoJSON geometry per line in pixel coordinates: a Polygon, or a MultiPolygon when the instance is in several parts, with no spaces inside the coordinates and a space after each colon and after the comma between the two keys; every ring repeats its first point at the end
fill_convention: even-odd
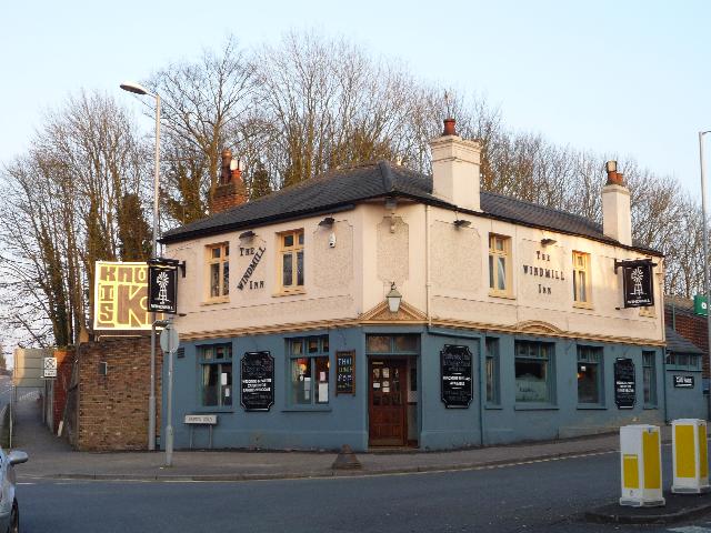
{"type": "Polygon", "coordinates": [[[709,492],[709,452],[707,421],[679,419],[671,423],[674,482],[671,492],[699,494],[709,492]]]}

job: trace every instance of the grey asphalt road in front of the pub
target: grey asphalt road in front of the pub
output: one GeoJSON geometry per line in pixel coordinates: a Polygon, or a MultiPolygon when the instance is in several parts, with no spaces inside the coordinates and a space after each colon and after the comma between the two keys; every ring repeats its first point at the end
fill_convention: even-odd
{"type": "Polygon", "coordinates": [[[667,527],[580,522],[583,510],[618,497],[618,454],[607,453],[372,477],[226,483],[24,480],[19,500],[24,533],[711,533],[711,516],[667,527]]]}

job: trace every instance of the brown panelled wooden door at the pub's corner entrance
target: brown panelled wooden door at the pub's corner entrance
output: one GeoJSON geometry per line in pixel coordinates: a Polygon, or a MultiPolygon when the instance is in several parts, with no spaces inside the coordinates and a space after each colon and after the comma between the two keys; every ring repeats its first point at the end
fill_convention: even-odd
{"type": "Polygon", "coordinates": [[[369,366],[369,443],[371,446],[404,446],[408,439],[405,361],[371,360],[369,366]]]}

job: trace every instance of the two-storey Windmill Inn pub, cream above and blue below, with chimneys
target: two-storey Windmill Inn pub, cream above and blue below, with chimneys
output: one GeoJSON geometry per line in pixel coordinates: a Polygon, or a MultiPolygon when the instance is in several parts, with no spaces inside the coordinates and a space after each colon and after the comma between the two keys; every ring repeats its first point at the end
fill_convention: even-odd
{"type": "MultiPolygon", "coordinates": [[[[162,238],[184,265],[176,447],[444,450],[665,421],[663,255],[632,242],[615,163],[600,227],[481,192],[480,144],[444,123],[431,177],[380,161],[254,201],[222,153],[212,214],[162,238]],[[214,423],[183,423],[200,414],[214,423]]],[[[679,389],[675,414],[700,401],[679,389]]]]}

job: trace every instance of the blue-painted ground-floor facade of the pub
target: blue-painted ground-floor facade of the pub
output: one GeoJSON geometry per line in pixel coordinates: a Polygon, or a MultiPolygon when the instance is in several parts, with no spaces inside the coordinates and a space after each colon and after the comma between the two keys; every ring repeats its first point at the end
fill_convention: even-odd
{"type": "MultiPolygon", "coordinates": [[[[214,413],[218,424],[212,428],[211,438],[216,449],[336,450],[349,444],[356,451],[367,450],[369,389],[373,386],[369,362],[375,358],[407,362],[407,376],[402,376],[408,382],[407,445],[421,450],[577,436],[614,431],[630,423],[660,424],[671,420],[672,414],[705,414],[698,409],[703,404],[699,376],[695,388],[674,389],[670,380],[681,371],[668,371],[662,349],[654,346],[393,324],[210,339],[183,343],[181,348],[184,351],[174,362],[177,449],[188,449],[191,442],[193,447],[208,447],[208,426],[188,426],[183,419],[187,414],[214,413]],[[373,352],[369,345],[372,335],[404,335],[409,348],[401,353],[373,352]],[[321,372],[328,373],[328,385],[319,390],[318,403],[313,401],[316,382],[312,395],[302,394],[297,400],[293,392],[303,383],[294,385],[297,363],[290,346],[294,340],[303,339],[321,339],[318,350],[326,352],[319,355],[328,356],[308,362],[320,365],[316,370],[321,379],[321,372]],[[473,394],[467,409],[447,409],[442,402],[440,352],[448,344],[468,346],[472,354],[473,394]],[[206,346],[212,345],[231,346],[229,375],[224,366],[229,365],[229,358],[221,362],[219,373],[226,376],[219,378],[222,400],[217,405],[214,395],[204,391],[206,381],[216,382],[203,369],[203,354],[212,353],[204,352],[206,346]],[[239,398],[240,360],[246,352],[261,351],[274,358],[274,403],[269,411],[247,412],[239,398]],[[338,351],[356,353],[353,394],[336,393],[338,351]],[[632,409],[615,405],[613,368],[618,358],[634,363],[632,409]],[[207,398],[212,405],[203,405],[207,398]]],[[[164,373],[163,383],[167,379],[164,373]]],[[[164,428],[164,410],[162,422],[164,428]]]]}

